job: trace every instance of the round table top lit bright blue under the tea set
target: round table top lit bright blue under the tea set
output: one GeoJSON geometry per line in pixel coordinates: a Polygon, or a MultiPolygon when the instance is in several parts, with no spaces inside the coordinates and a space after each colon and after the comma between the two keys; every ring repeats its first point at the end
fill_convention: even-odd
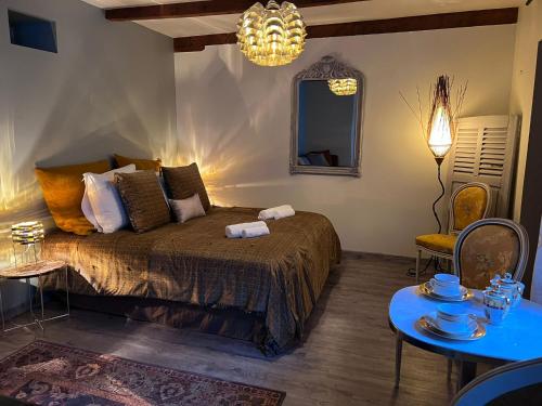
{"type": "MultiPolygon", "coordinates": [[[[485,320],[481,292],[473,292],[474,297],[462,305],[485,320]]],[[[522,299],[511,309],[501,325],[483,323],[485,337],[475,341],[455,341],[438,338],[415,326],[421,316],[436,311],[442,303],[420,293],[417,286],[410,286],[391,298],[389,319],[404,336],[450,352],[505,362],[542,357],[542,305],[522,299]]]]}

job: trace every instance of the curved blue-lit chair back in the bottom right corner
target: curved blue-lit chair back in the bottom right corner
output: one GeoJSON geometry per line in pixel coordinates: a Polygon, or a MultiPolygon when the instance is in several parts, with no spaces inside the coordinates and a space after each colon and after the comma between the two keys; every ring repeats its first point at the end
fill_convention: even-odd
{"type": "Polygon", "coordinates": [[[452,406],[540,405],[542,358],[513,363],[480,375],[452,400],[452,406]],[[501,402],[502,401],[502,402],[501,402]]]}

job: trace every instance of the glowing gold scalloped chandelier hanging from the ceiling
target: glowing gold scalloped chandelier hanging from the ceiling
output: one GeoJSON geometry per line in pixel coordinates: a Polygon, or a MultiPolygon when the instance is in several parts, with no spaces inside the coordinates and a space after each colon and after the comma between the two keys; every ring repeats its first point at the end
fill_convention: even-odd
{"type": "Polygon", "coordinates": [[[296,60],[305,48],[307,31],[301,14],[291,2],[271,0],[254,4],[237,23],[241,52],[256,65],[281,66],[296,60]]]}

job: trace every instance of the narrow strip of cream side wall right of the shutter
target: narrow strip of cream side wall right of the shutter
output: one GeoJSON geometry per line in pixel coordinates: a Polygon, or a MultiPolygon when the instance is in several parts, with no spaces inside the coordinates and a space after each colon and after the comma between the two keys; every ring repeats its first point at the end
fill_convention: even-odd
{"type": "Polygon", "coordinates": [[[542,40],[542,3],[533,1],[529,6],[524,5],[519,9],[512,76],[511,113],[522,116],[514,204],[514,220],[516,221],[519,221],[521,210],[537,52],[540,40],[542,40]]]}

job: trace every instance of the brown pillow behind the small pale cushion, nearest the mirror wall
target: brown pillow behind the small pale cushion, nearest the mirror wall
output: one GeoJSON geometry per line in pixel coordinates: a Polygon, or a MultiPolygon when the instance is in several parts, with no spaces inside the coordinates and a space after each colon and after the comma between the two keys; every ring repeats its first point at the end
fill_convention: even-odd
{"type": "Polygon", "coordinates": [[[188,167],[162,168],[169,197],[173,200],[188,199],[197,193],[205,211],[210,209],[209,196],[205,189],[199,169],[196,163],[188,167]]]}

